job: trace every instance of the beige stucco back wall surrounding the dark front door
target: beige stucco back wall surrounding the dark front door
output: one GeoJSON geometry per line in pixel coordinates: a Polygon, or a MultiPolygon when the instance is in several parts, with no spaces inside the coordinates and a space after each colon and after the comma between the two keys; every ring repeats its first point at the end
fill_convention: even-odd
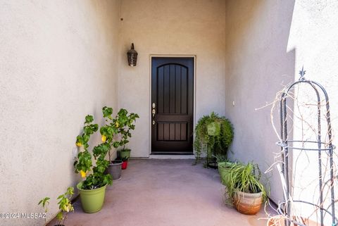
{"type": "Polygon", "coordinates": [[[130,140],[134,157],[148,157],[150,148],[150,56],[196,56],[196,117],[224,114],[225,1],[122,1],[119,106],[139,113],[130,140]],[[127,65],[134,42],[137,67],[127,65]]]}

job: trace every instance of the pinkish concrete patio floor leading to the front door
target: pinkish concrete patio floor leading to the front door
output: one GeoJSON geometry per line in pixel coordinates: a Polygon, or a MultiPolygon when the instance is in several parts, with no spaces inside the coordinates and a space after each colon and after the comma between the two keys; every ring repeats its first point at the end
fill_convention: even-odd
{"type": "Polygon", "coordinates": [[[130,160],[122,178],[106,191],[99,213],[84,213],[80,199],[66,225],[227,226],[266,225],[258,215],[242,215],[223,203],[217,170],[194,160],[130,160]]]}

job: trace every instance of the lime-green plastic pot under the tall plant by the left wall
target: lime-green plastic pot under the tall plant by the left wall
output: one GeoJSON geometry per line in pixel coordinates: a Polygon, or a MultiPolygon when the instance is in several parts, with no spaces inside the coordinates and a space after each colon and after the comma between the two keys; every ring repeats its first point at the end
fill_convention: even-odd
{"type": "Polygon", "coordinates": [[[106,194],[107,184],[98,189],[84,190],[81,189],[82,182],[80,182],[76,187],[80,192],[81,205],[84,212],[96,213],[101,211],[102,206],[104,206],[104,196],[106,194]]]}

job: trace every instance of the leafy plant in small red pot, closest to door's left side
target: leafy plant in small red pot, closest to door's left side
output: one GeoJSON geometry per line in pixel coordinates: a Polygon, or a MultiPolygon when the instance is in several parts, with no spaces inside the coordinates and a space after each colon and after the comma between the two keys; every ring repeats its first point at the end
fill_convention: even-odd
{"type": "Polygon", "coordinates": [[[139,118],[139,115],[136,113],[128,114],[128,111],[124,108],[121,108],[118,111],[118,115],[116,115],[115,119],[113,119],[113,123],[118,130],[118,134],[120,134],[120,141],[115,143],[114,146],[123,146],[119,151],[119,156],[121,159],[130,158],[130,149],[125,148],[125,144],[129,143],[129,138],[132,137],[131,130],[135,129],[134,123],[136,119],[139,118]]]}

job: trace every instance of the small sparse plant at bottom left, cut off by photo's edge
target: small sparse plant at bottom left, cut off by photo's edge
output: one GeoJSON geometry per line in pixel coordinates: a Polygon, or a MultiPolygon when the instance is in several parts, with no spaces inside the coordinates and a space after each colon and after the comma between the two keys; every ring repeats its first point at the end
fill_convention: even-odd
{"type": "MultiPolygon", "coordinates": [[[[74,188],[68,187],[67,192],[58,196],[58,214],[56,215],[56,225],[55,226],[65,226],[65,220],[67,220],[67,215],[70,211],[74,211],[74,207],[70,199],[74,194],[74,188]]],[[[41,205],[44,208],[44,213],[48,212],[49,206],[49,197],[45,197],[44,199],[40,200],[38,205],[41,205]]],[[[46,218],[45,222],[46,222],[46,218]]]]}

